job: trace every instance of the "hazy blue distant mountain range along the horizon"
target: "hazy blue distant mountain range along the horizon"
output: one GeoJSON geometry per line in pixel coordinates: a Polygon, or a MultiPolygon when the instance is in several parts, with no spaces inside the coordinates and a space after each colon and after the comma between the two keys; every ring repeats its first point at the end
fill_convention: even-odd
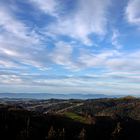
{"type": "Polygon", "coordinates": [[[0,98],[27,98],[27,99],[97,99],[114,98],[122,95],[104,94],[52,94],[52,93],[0,93],[0,98]]]}

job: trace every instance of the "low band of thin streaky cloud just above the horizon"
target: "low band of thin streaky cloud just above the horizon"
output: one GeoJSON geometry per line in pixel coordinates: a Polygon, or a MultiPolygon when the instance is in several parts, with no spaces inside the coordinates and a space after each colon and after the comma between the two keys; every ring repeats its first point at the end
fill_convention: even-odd
{"type": "Polygon", "coordinates": [[[16,92],[23,89],[28,92],[51,92],[51,93],[102,93],[102,94],[138,94],[139,79],[133,75],[118,77],[113,74],[104,73],[93,76],[47,76],[47,75],[0,75],[1,87],[7,85],[4,91],[16,92]],[[133,84],[132,84],[133,82],[133,84]],[[135,83],[134,83],[135,82],[135,83]],[[137,83],[136,83],[137,82],[137,83]],[[130,87],[130,89],[126,88],[130,87]],[[114,92],[115,91],[115,92],[114,92]]]}

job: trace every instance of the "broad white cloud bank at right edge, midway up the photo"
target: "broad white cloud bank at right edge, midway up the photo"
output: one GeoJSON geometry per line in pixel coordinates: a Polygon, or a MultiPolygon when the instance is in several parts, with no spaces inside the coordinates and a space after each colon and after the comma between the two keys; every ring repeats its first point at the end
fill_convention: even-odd
{"type": "Polygon", "coordinates": [[[120,50],[108,50],[95,52],[82,51],[77,58],[77,67],[103,68],[120,72],[140,72],[140,50],[123,52],[120,50]]]}

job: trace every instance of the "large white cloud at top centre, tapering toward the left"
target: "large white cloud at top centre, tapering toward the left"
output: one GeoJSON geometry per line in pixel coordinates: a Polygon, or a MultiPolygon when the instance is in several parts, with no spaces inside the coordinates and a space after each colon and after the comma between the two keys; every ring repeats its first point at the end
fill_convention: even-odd
{"type": "Polygon", "coordinates": [[[52,34],[67,35],[92,45],[89,35],[106,33],[107,13],[110,0],[79,0],[73,13],[59,17],[58,22],[49,27],[52,34]]]}

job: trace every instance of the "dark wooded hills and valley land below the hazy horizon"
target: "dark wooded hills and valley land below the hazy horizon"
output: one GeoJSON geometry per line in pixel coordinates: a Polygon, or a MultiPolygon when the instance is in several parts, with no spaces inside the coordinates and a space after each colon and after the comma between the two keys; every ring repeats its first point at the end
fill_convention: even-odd
{"type": "Polygon", "coordinates": [[[0,102],[1,140],[140,139],[140,99],[0,102]]]}

